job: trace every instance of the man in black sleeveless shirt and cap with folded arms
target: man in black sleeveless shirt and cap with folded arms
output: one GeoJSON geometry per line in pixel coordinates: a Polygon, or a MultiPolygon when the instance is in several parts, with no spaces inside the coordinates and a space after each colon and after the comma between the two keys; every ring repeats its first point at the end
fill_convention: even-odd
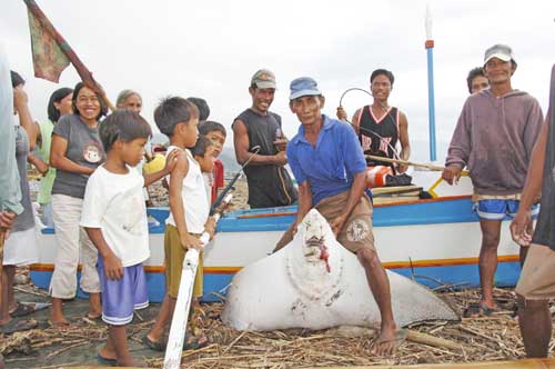
{"type": "Polygon", "coordinates": [[[274,100],[275,77],[266,69],[256,71],[249,93],[251,108],[233,121],[235,157],[244,167],[249,184],[249,205],[254,208],[289,206],[296,201],[297,192],[285,170],[287,140],[282,133],[281,117],[271,112],[274,100]],[[258,152],[252,148],[259,146],[258,152]]]}

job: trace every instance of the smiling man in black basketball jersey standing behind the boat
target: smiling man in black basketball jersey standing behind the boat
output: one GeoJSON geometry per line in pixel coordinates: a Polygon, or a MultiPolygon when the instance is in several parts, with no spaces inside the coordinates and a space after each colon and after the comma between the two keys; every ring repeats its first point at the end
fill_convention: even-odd
{"type": "MultiPolygon", "coordinates": [[[[386,69],[376,69],[370,77],[370,89],[374,99],[372,104],[355,111],[352,126],[359,136],[359,141],[365,154],[385,157],[389,159],[408,160],[411,146],[408,143],[408,122],[406,116],[395,107],[390,107],[387,99],[393,89],[395,78],[386,69]],[[401,143],[401,153],[396,146],[401,143]]],[[[343,107],[337,108],[337,118],[346,121],[343,107]]],[[[394,167],[390,162],[366,159],[369,181],[371,187],[385,184],[385,176],[403,173],[407,166],[394,167]]]]}

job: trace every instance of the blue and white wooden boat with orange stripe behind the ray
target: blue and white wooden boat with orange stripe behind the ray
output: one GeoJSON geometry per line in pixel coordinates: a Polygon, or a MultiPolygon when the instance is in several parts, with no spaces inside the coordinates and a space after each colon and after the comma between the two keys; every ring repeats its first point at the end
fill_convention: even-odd
{"type": "MultiPolygon", "coordinates": [[[[463,177],[458,186],[451,187],[437,172],[416,171],[414,182],[433,198],[423,200],[411,192],[383,198],[386,189],[373,191],[374,235],[383,265],[431,288],[478,286],[482,236],[471,201],[470,179],[463,177]]],[[[144,266],[151,301],[161,301],[165,290],[163,233],[168,211],[148,209],[151,257],[144,266]]],[[[220,299],[238,270],[272,252],[295,212],[296,207],[282,207],[240,210],[223,217],[205,249],[203,299],[220,299]]],[[[500,287],[514,286],[521,270],[518,247],[511,240],[508,223],[508,218],[503,221],[498,248],[495,281],[500,287]]],[[[48,288],[54,257],[56,237],[53,229],[47,228],[40,236],[40,263],[31,268],[37,286],[48,288]]]]}

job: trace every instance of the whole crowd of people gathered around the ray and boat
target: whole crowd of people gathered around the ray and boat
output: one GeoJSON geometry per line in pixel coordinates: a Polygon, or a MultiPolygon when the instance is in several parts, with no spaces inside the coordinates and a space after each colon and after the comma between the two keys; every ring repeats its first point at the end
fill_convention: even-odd
{"type": "MultiPolygon", "coordinates": [[[[483,67],[471,70],[471,96],[456,124],[442,177],[453,184],[466,167],[475,189],[475,211],[483,235],[482,300],[467,313],[491,315],[497,308],[493,287],[501,225],[512,216],[511,230],[521,245],[523,265],[516,293],[524,345],[528,356],[545,357],[552,331],[547,299],[555,296],[555,239],[551,232],[555,133],[549,127],[554,117],[549,109],[544,119],[537,100],[513,88],[516,67],[512,49],[495,44],[485,51],[483,67]],[[538,213],[533,232],[532,220],[538,213]]],[[[235,157],[246,174],[250,207],[299,206],[295,221],[275,250],[292,240],[304,216],[315,208],[330,221],[337,240],[356,255],[381,311],[381,332],[373,352],[382,356],[393,353],[406,337],[406,330],[397,327],[393,317],[387,276],[374,245],[373,206],[367,191],[369,186],[383,186],[389,177],[407,169],[408,123],[405,113],[389,104],[393,83],[391,71],[372,72],[373,101],[357,109],[349,122],[343,107],[336,110],[337,119],[322,113],[325,98],[314,79],[294,79],[289,106],[300,128],[289,140],[281,117],[270,111],[275,76],[261,69],[249,86],[251,107],[232,123],[235,157]]],[[[13,295],[16,267],[38,261],[29,163],[41,173],[41,221],[54,228],[58,241],[49,289],[50,325],[61,330],[74,328],[63,313],[63,302],[75,296],[81,260],[79,283],[89,296],[87,317],[109,326],[107,343],[98,358],[110,365],[138,365],[129,351],[125,327],[134,310],[149,306],[142,267],[150,256],[144,188],[164,181],[170,203],[164,235],[167,291],[153,327],[142,339],[147,347],[164,350],[184,257],[190,249],[202,251],[202,233],[215,232],[211,207],[224,184],[224,168],[218,160],[226,140],[224,126],[209,120],[204,99],[163,99],[155,108],[154,122],[169,137],[165,167],[148,173],[142,166],[152,153],[152,129],[140,116],[142,98],[138,92],[121,91],[118,110],[108,114],[95,87],[80,82],[74,88],[61,88],[48,102],[48,121],[37,123],[28,107],[24,80],[13,71],[10,76],[1,49],[0,88],[1,333],[36,326],[12,319],[34,311],[32,305],[18,302],[13,295]]],[[[555,103],[555,67],[549,103],[555,103]]],[[[202,283],[201,252],[192,322],[198,319],[202,283]]],[[[206,337],[193,325],[185,348],[205,343],[206,337]]]]}

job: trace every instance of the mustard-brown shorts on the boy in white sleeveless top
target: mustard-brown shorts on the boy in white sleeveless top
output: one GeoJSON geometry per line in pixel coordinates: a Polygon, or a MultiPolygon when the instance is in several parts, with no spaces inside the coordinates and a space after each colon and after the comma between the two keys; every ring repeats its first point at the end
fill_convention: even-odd
{"type": "MultiPolygon", "coordinates": [[[[201,235],[189,233],[200,238],[201,235]]],[[[171,298],[176,299],[179,293],[179,283],[181,281],[181,271],[183,269],[183,260],[185,259],[186,250],[181,246],[178,228],[172,225],[165,225],[164,233],[164,265],[165,265],[165,290],[171,298]]],[[[198,298],[203,295],[203,253],[199,255],[199,267],[194,277],[193,297],[198,298]]]]}

